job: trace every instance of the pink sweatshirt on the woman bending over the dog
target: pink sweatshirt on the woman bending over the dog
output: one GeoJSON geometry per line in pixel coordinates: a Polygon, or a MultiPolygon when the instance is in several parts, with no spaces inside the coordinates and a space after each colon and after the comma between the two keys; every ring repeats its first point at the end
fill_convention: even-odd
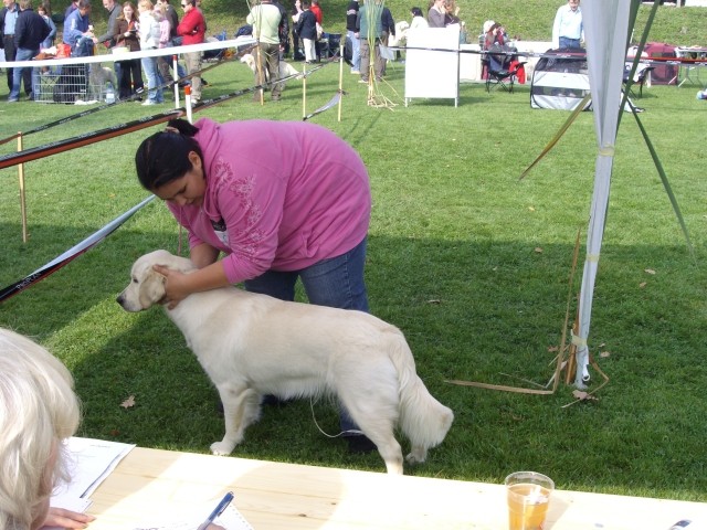
{"type": "Polygon", "coordinates": [[[330,130],[304,121],[208,118],[194,126],[204,158],[203,204],[168,206],[189,231],[190,247],[208,243],[228,254],[222,263],[229,282],[298,271],[366,237],[368,173],[330,130]],[[221,220],[224,241],[212,226],[221,220]]]}

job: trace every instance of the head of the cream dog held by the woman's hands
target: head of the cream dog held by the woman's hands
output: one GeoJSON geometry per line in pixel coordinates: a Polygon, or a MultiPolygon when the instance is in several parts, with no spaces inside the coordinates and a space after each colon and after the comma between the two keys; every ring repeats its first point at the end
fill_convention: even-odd
{"type": "Polygon", "coordinates": [[[175,256],[167,251],[155,251],[140,256],[133,264],[130,283],[116,298],[123,309],[137,312],[149,309],[155,304],[162,303],[165,298],[165,280],[167,278],[155,271],[155,265],[161,265],[182,273],[194,268],[189,259],[175,256]]]}

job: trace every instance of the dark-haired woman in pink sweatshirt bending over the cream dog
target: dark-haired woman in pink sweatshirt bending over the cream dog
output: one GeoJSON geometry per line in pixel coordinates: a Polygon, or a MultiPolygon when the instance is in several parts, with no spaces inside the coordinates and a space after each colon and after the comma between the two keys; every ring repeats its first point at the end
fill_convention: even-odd
{"type": "MultiPolygon", "coordinates": [[[[240,282],[294,300],[299,279],[310,304],[368,312],[368,171],[330,130],[308,121],[173,119],[140,144],[135,165],[140,184],[189,232],[198,267],[156,267],[168,307],[240,282]]],[[[345,412],[341,428],[351,452],[374,448],[345,412]]]]}

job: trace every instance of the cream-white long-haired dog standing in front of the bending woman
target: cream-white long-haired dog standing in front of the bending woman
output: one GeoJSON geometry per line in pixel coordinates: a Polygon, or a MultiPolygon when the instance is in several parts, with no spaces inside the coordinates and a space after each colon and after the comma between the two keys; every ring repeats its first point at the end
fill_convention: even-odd
{"type": "MultiPolygon", "coordinates": [[[[141,256],[117,298],[125,310],[163,303],[165,276],[154,265],[194,271],[189,259],[167,251],[141,256]]],[[[397,425],[411,442],[405,459],[420,463],[454,420],[415,373],[400,330],[366,312],[282,301],[235,287],[192,294],[165,310],[223,402],[225,435],[211,445],[213,454],[228,455],[243,441],[265,394],[338,396],[391,474],[403,470],[397,425]]]]}

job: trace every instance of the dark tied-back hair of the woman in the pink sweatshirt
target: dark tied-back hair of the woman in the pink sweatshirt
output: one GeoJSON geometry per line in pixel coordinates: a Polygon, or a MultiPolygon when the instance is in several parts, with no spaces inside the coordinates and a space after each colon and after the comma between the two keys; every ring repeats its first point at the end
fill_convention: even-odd
{"type": "Polygon", "coordinates": [[[150,136],[135,153],[137,178],[148,191],[181,179],[191,169],[190,151],[203,160],[201,147],[193,138],[199,131],[197,127],[183,119],[170,119],[167,126],[176,130],[150,136]]]}

